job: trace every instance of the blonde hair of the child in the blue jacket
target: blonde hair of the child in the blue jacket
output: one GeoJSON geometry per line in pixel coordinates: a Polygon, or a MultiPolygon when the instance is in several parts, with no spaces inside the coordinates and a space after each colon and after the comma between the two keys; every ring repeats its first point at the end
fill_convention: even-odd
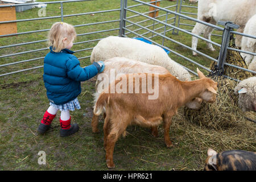
{"type": "Polygon", "coordinates": [[[76,38],[75,28],[68,23],[56,22],[52,25],[48,34],[48,46],[52,46],[54,52],[60,52],[65,48],[63,39],[67,38],[68,43],[76,38]]]}

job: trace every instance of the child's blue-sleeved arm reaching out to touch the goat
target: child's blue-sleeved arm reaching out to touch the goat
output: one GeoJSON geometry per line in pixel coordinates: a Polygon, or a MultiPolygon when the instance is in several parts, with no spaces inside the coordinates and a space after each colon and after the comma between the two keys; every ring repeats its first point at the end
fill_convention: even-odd
{"type": "Polygon", "coordinates": [[[82,68],[78,59],[69,59],[66,66],[68,77],[76,81],[89,80],[101,70],[101,66],[98,63],[93,63],[88,67],[82,68]]]}

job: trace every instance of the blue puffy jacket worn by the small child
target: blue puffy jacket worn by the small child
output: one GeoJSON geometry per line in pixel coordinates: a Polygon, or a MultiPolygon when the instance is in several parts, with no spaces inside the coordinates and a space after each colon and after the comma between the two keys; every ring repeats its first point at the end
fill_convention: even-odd
{"type": "Polygon", "coordinates": [[[93,63],[88,67],[80,67],[74,52],[63,49],[61,52],[49,52],[44,58],[44,86],[47,97],[56,105],[74,100],[81,93],[81,81],[89,80],[97,75],[101,66],[93,63]]]}

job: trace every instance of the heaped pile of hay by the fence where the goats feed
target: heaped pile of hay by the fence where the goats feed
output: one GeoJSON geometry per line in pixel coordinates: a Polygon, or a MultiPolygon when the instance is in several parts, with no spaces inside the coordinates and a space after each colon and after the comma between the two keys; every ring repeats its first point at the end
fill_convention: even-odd
{"type": "Polygon", "coordinates": [[[238,97],[234,94],[234,87],[237,82],[224,79],[218,83],[217,101],[213,104],[203,102],[200,110],[192,110],[184,107],[185,118],[192,123],[200,126],[232,127],[238,122],[245,120],[245,114],[238,107],[238,97]]]}

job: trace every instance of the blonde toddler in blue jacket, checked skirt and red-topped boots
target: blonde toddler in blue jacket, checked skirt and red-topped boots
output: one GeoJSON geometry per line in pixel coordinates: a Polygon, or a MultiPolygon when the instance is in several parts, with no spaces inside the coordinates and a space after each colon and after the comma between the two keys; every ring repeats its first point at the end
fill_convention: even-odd
{"type": "Polygon", "coordinates": [[[71,47],[76,38],[75,28],[68,23],[54,23],[49,31],[50,52],[44,58],[44,86],[46,86],[49,108],[38,127],[40,134],[51,127],[58,110],[60,114],[60,136],[67,137],[79,130],[77,123],[71,124],[69,111],[80,109],[77,96],[81,93],[81,81],[89,80],[104,70],[102,61],[88,67],[80,67],[71,47]]]}

